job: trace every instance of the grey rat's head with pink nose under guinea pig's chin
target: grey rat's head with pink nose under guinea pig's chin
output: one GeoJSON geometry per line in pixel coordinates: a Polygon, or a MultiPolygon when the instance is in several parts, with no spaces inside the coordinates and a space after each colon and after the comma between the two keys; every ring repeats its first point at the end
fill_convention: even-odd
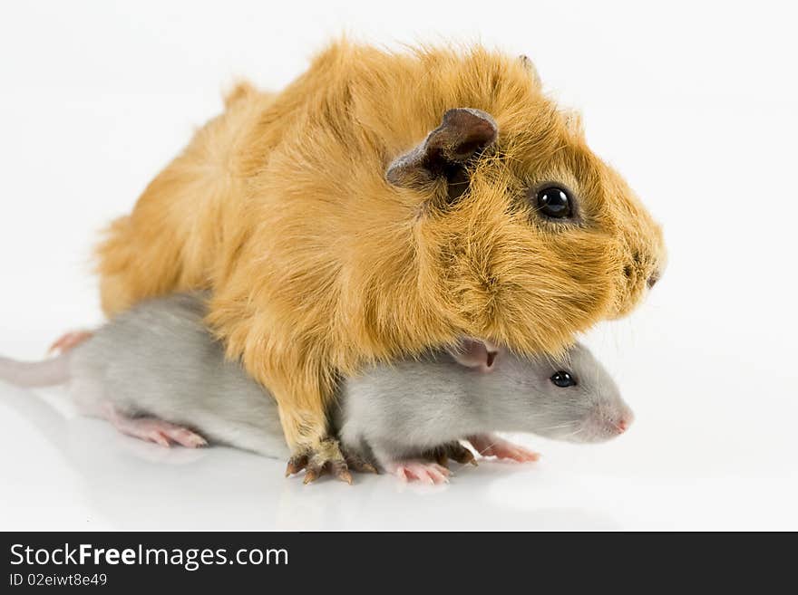
{"type": "Polygon", "coordinates": [[[634,419],[607,370],[580,344],[556,360],[500,350],[481,382],[492,388],[491,415],[499,430],[604,442],[625,432],[634,419]]]}

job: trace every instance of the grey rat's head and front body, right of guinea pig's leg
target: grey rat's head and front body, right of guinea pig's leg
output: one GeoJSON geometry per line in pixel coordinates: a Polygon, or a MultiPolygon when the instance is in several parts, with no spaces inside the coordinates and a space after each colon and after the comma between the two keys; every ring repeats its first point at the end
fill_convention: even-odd
{"type": "Polygon", "coordinates": [[[633,420],[615,382],[583,345],[569,348],[561,360],[501,350],[490,371],[458,360],[435,350],[347,379],[337,417],[347,452],[359,450],[395,471],[403,461],[458,440],[481,452],[496,446],[491,442],[508,447],[491,437],[495,431],[602,442],[633,420]],[[556,375],[565,386],[555,384],[556,375]]]}

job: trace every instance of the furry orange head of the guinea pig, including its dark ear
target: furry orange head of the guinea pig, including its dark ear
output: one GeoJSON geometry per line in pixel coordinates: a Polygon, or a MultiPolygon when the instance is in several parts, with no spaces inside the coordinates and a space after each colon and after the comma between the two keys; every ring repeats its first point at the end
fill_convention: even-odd
{"type": "Polygon", "coordinates": [[[662,234],[579,118],[542,94],[529,61],[475,51],[439,68],[445,101],[424,100],[426,137],[386,171],[416,201],[428,303],[462,334],[525,353],[557,353],[632,310],[662,274],[662,234]]]}

